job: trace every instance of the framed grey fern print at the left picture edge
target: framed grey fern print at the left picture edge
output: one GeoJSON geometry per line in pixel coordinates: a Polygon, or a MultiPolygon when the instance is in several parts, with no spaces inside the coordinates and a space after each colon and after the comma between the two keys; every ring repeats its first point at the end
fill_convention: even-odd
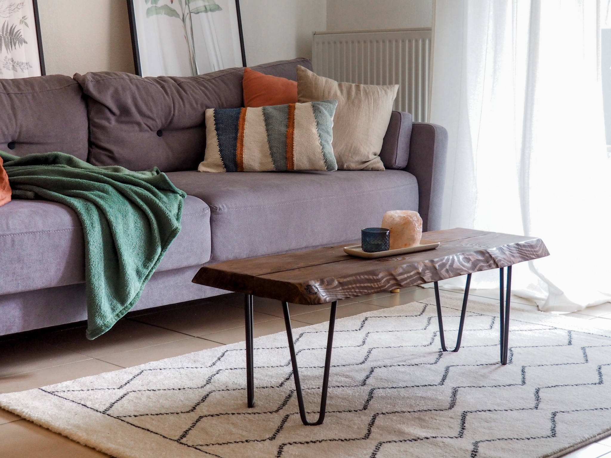
{"type": "Polygon", "coordinates": [[[0,0],[0,78],[45,75],[36,0],[0,0]]]}

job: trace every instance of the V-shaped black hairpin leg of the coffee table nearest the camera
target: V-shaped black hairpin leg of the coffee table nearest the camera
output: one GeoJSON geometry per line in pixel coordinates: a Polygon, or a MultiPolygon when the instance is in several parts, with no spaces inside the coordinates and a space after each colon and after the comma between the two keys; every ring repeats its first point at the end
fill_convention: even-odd
{"type": "Polygon", "coordinates": [[[301,392],[301,382],[299,382],[299,367],[297,366],[297,358],[295,355],[295,343],[293,342],[293,329],[291,327],[291,316],[288,313],[288,302],[282,302],[284,311],[284,322],[287,325],[288,349],[291,352],[291,363],[293,364],[293,378],[295,379],[295,391],[297,393],[297,402],[299,404],[299,415],[305,426],[314,426],[323,424],[324,414],[327,408],[327,390],[329,389],[329,370],[331,369],[331,350],[333,349],[333,331],[335,329],[335,313],[337,312],[337,300],[331,302],[331,316],[329,316],[329,334],[327,335],[327,355],[324,358],[324,375],[323,375],[323,393],[320,397],[320,413],[318,420],[313,423],[307,421],[304,407],[304,397],[301,392]]]}

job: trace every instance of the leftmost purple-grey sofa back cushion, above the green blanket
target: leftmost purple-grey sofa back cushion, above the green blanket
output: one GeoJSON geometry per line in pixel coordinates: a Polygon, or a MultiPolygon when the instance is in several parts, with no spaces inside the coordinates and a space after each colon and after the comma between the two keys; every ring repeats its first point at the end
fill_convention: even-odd
{"type": "Polygon", "coordinates": [[[87,159],[87,107],[70,76],[0,79],[0,150],[87,159]]]}

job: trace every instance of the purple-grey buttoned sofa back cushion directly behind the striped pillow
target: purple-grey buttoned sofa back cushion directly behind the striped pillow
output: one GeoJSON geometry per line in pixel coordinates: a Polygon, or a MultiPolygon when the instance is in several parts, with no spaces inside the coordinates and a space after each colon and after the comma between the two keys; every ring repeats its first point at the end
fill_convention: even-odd
{"type": "MultiPolygon", "coordinates": [[[[296,80],[293,59],[252,67],[266,75],[296,80]]],[[[87,96],[89,162],[131,170],[195,170],[203,160],[208,108],[243,106],[244,68],[206,75],[157,78],[102,71],[75,75],[87,96]]]]}

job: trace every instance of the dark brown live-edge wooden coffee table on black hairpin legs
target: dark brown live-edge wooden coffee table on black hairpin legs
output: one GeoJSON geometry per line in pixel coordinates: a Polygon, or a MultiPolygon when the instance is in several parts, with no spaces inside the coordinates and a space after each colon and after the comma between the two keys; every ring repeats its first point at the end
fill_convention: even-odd
{"type": "Polygon", "coordinates": [[[268,297],[282,301],[284,321],[287,327],[288,347],[293,365],[293,377],[299,404],[301,421],[305,425],[322,424],[326,410],[331,350],[337,301],[365,294],[381,293],[397,288],[434,282],[437,305],[439,337],[443,351],[445,347],[444,327],[439,300],[439,280],[467,275],[463,297],[458,338],[452,351],[458,351],[463,335],[464,318],[469,297],[471,274],[499,269],[500,274],[500,362],[507,364],[509,338],[509,312],[511,297],[511,266],[548,256],[541,239],[472,229],[448,229],[422,234],[422,238],[441,242],[437,249],[408,253],[378,259],[355,258],[346,255],[342,244],[284,255],[260,256],[244,260],[225,261],[202,267],[193,278],[194,283],[244,293],[246,319],[246,385],[248,407],[254,406],[253,366],[253,296],[268,297]],[[507,267],[507,293],[504,270],[507,267]],[[288,303],[326,304],[331,302],[329,333],[324,362],[323,390],[318,420],[310,422],[299,382],[299,368],[295,357],[295,345],[291,329],[288,303]]]}

